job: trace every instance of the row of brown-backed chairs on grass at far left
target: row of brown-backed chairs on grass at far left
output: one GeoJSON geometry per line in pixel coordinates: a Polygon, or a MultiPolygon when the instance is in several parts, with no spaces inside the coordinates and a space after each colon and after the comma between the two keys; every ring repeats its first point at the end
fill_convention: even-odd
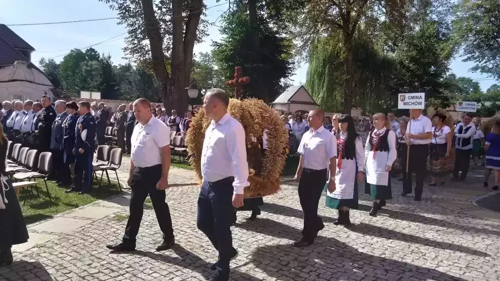
{"type": "MultiPolygon", "coordinates": [[[[47,177],[52,171],[52,153],[38,153],[36,149],[22,147],[20,143],[13,144],[12,141],[7,143],[7,167],[6,172],[12,181],[12,186],[16,192],[20,189],[30,187],[31,192],[35,188],[38,197],[38,186],[36,179],[43,179],[47,191],[48,199],[51,201],[50,192],[47,185],[47,177]]],[[[24,197],[24,203],[26,197],[24,197]]]]}

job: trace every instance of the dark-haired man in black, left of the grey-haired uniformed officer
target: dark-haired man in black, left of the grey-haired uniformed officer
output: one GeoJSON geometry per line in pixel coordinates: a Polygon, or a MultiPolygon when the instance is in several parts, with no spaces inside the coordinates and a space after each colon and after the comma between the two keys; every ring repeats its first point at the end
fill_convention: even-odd
{"type": "Polygon", "coordinates": [[[52,123],[54,122],[55,117],[57,117],[57,113],[50,103],[50,97],[46,95],[41,97],[41,106],[43,109],[40,111],[40,114],[38,114],[35,121],[37,124],[37,131],[35,131],[35,134],[38,135],[40,142],[38,150],[40,152],[45,152],[50,151],[52,123]]]}

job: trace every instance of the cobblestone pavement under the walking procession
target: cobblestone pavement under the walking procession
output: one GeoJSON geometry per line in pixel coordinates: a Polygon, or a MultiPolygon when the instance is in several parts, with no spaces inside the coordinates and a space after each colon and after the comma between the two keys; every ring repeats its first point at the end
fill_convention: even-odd
{"type": "MultiPolygon", "coordinates": [[[[283,184],[279,193],[264,198],[256,221],[246,221],[249,212],[238,213],[231,229],[239,256],[231,262],[231,280],[500,280],[500,215],[472,204],[489,192],[480,171],[465,183],[425,186],[421,202],[401,197],[400,182],[392,180],[394,199],[370,217],[370,201],[360,195],[349,228],[332,224],[336,211],[324,207],[323,195],[319,214],[325,229],[306,249],[289,246],[300,238],[302,212],[296,185],[283,184]]],[[[172,181],[196,182],[182,175],[172,181]]],[[[196,228],[197,195],[196,186],[167,190],[176,239],[169,251],[154,250],[161,232],[150,207],[144,211],[137,252],[116,254],[104,247],[123,234],[124,194],[52,220],[70,225],[69,230],[61,230],[57,221],[30,225],[31,239],[44,242],[17,248],[14,264],[0,268],[0,280],[206,280],[217,253],[196,228]]]]}

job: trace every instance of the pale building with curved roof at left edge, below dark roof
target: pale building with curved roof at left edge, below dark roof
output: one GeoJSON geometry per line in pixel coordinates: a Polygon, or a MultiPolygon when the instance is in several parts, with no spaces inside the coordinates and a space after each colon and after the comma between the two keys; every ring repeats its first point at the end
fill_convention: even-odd
{"type": "Polygon", "coordinates": [[[28,67],[27,61],[15,61],[13,65],[0,69],[0,100],[21,101],[41,100],[47,95],[53,98],[50,91],[54,86],[37,68],[28,67]]]}

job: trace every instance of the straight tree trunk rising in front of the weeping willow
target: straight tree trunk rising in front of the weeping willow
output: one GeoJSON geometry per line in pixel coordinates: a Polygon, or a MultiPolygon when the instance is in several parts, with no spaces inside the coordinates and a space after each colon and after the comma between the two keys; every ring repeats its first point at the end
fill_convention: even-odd
{"type": "Polygon", "coordinates": [[[354,47],[352,46],[352,32],[343,32],[345,58],[344,58],[344,83],[343,83],[343,108],[342,113],[350,115],[352,110],[352,64],[354,60],[354,47]]]}

